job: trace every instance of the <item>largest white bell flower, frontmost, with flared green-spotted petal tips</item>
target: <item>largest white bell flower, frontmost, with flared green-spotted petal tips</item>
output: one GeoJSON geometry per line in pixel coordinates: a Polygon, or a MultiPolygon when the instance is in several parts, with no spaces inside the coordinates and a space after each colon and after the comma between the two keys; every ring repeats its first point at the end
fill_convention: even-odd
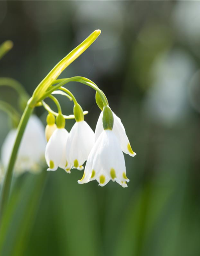
{"type": "Polygon", "coordinates": [[[103,130],[92,148],[86,163],[84,175],[79,184],[97,180],[105,186],[110,180],[127,187],[126,166],[123,152],[114,132],[103,130]]]}

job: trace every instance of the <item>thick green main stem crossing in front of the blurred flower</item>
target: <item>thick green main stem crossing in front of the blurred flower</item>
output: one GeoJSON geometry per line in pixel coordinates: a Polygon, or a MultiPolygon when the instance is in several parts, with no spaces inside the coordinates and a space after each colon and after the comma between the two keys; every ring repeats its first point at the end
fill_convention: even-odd
{"type": "Polygon", "coordinates": [[[6,175],[4,178],[1,196],[0,196],[0,220],[2,218],[2,215],[4,214],[4,210],[9,198],[10,185],[12,181],[12,173],[13,173],[13,168],[16,161],[16,157],[17,157],[17,152],[20,146],[20,142],[22,140],[22,136],[24,134],[24,130],[26,128],[26,124],[28,123],[28,120],[30,118],[30,115],[32,114],[32,111],[33,111],[33,108],[31,108],[29,104],[27,104],[18,126],[16,140],[14,142],[14,147],[12,149],[10,161],[6,170],[6,175]]]}

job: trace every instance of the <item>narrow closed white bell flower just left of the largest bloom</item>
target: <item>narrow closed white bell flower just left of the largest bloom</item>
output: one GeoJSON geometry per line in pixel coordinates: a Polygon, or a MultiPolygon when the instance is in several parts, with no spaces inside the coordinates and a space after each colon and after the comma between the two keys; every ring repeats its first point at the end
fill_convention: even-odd
{"type": "Polygon", "coordinates": [[[94,132],[83,120],[72,127],[66,143],[66,158],[71,166],[82,169],[94,146],[94,132]]]}

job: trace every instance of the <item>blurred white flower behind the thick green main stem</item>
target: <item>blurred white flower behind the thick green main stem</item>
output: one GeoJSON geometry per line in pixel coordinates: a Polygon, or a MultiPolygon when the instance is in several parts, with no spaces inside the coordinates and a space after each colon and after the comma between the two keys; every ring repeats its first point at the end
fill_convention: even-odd
{"type": "MultiPolygon", "coordinates": [[[[8,166],[16,134],[16,129],[10,130],[2,145],[1,160],[4,169],[8,166]]],[[[22,137],[14,166],[14,173],[21,174],[25,171],[40,171],[42,166],[44,166],[45,146],[44,126],[37,116],[32,115],[22,137]]]]}

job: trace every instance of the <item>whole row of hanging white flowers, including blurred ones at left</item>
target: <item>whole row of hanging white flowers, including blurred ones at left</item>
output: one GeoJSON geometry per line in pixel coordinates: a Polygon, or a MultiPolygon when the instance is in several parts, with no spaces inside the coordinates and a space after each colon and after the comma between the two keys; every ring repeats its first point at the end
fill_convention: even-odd
{"type": "MultiPolygon", "coordinates": [[[[37,116],[30,117],[22,137],[14,173],[40,171],[44,166],[44,156],[49,167],[48,171],[55,171],[58,167],[67,173],[73,168],[83,170],[83,164],[87,161],[84,175],[78,180],[79,184],[97,180],[100,186],[105,186],[112,180],[122,187],[127,187],[126,182],[129,182],[129,179],[126,176],[123,152],[130,156],[135,156],[136,153],[132,151],[120,118],[110,107],[104,107],[93,132],[84,121],[80,105],[76,104],[75,110],[78,114],[75,115],[76,111],[74,111],[76,122],[70,132],[65,129],[65,119],[62,114],[58,114],[55,118],[49,113],[45,130],[37,116]],[[104,111],[105,109],[107,112],[104,111]],[[106,127],[104,116],[107,118],[106,127]]],[[[8,166],[16,134],[17,129],[10,130],[2,145],[3,170],[8,166]]]]}

